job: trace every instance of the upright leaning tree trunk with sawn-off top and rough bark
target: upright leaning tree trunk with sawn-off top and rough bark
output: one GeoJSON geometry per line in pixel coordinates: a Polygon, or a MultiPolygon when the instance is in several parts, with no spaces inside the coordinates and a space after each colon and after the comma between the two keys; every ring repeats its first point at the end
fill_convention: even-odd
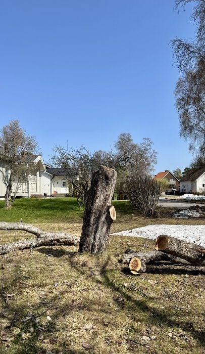
{"type": "Polygon", "coordinates": [[[79,252],[98,253],[103,251],[116,212],[111,199],[115,189],[117,172],[113,168],[100,166],[93,173],[83,218],[79,252]]]}

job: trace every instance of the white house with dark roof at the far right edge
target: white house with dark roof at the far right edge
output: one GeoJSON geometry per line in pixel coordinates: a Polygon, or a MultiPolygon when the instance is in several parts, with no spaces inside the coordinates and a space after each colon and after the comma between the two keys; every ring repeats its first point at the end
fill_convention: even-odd
{"type": "Polygon", "coordinates": [[[190,169],[180,180],[180,192],[205,194],[205,167],[190,169]]]}

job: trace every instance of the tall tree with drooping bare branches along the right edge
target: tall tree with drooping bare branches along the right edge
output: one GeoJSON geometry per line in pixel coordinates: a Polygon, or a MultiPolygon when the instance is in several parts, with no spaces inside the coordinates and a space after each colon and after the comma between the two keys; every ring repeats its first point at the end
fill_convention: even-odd
{"type": "Polygon", "coordinates": [[[176,8],[195,3],[191,19],[197,24],[195,38],[172,40],[173,54],[181,77],[176,84],[176,107],[179,112],[180,134],[190,141],[189,148],[197,158],[205,158],[205,2],[177,0],[176,8]]]}

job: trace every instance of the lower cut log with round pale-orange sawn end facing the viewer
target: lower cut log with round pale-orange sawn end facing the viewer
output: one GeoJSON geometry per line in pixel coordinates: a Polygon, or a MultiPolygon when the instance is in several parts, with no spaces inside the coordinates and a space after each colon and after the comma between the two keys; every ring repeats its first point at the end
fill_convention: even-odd
{"type": "Polygon", "coordinates": [[[150,251],[150,252],[135,252],[135,253],[125,253],[122,256],[122,263],[123,264],[129,264],[129,268],[131,268],[131,273],[132,274],[140,274],[140,273],[144,273],[146,272],[146,266],[148,264],[153,264],[157,261],[160,260],[164,260],[164,261],[170,261],[173,264],[182,264],[182,265],[192,265],[191,263],[189,263],[188,261],[178,258],[178,257],[174,257],[170,254],[164,253],[164,252],[160,252],[160,251],[150,251]],[[134,265],[132,264],[132,259],[134,261],[134,265]],[[135,263],[136,262],[136,263],[135,263]],[[131,266],[130,266],[131,264],[131,266]],[[139,265],[140,264],[140,268],[137,267],[136,269],[133,269],[135,264],[139,265]],[[135,272],[135,273],[134,273],[135,272]]]}

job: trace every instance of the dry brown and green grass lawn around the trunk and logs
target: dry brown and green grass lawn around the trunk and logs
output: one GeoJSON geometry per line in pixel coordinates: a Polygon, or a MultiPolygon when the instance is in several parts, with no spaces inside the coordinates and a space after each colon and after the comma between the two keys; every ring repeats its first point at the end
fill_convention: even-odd
{"type": "MultiPolygon", "coordinates": [[[[159,219],[146,219],[126,201],[113,204],[117,220],[111,232],[150,224],[204,224],[202,219],[172,219],[168,209],[159,219]]],[[[12,210],[0,202],[1,221],[22,218],[43,230],[77,236],[83,211],[72,198],[19,199],[12,210]]],[[[0,243],[30,237],[1,231],[0,243]]],[[[159,264],[133,276],[118,261],[126,248],[145,252],[153,241],[110,236],[108,249],[98,256],[78,255],[77,247],[60,245],[2,256],[0,353],[204,353],[204,272],[159,264]]]]}

